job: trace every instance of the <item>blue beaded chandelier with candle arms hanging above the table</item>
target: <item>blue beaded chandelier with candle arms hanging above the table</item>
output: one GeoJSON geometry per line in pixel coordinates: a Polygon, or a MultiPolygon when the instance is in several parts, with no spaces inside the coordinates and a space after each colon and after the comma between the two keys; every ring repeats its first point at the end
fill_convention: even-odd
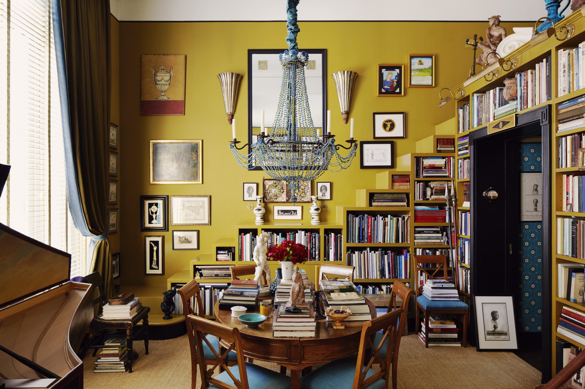
{"type": "MultiPolygon", "coordinates": [[[[249,167],[254,160],[262,169],[276,180],[287,181],[295,202],[302,181],[314,180],[325,170],[338,172],[347,169],[356,155],[357,142],[353,134],[346,141],[348,147],[335,144],[335,135],[328,128],[324,135],[318,133],[311,118],[311,108],[305,83],[305,66],[309,55],[298,51],[297,5],[299,0],[287,0],[287,43],[288,50],[280,54],[283,65],[283,80],[274,124],[270,134],[261,132],[257,141],[251,145],[238,147],[233,139],[230,150],[236,162],[249,167]],[[249,146],[250,153],[240,154],[249,146]],[[339,155],[339,148],[349,150],[346,156],[339,155]]],[[[319,131],[320,132],[320,131],[319,131]]]]}

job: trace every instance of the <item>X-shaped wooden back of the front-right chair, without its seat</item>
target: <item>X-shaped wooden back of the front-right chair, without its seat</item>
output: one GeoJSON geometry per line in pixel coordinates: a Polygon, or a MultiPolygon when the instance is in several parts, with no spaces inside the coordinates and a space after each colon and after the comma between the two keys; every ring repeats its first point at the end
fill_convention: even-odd
{"type": "Polygon", "coordinates": [[[398,318],[404,311],[403,308],[398,308],[390,313],[383,314],[380,317],[366,321],[362,327],[362,338],[360,339],[360,349],[357,353],[356,374],[353,380],[353,389],[362,389],[373,383],[378,379],[384,379],[388,383],[388,374],[390,374],[390,359],[391,352],[386,352],[386,356],[380,356],[380,348],[384,342],[388,340],[388,345],[394,344],[394,337],[396,336],[396,325],[398,318]],[[384,331],[381,341],[374,344],[374,334],[378,331],[384,331]],[[371,350],[371,357],[365,363],[367,349],[371,350]],[[380,364],[380,371],[374,373],[366,379],[366,372],[370,370],[374,364],[380,364]]]}

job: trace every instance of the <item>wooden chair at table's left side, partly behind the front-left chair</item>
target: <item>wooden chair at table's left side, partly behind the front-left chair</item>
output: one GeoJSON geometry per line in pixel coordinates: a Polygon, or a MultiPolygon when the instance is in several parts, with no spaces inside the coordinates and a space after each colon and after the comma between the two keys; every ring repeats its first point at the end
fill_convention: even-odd
{"type": "MultiPolygon", "coordinates": [[[[197,383],[197,351],[195,350],[195,338],[193,337],[193,328],[191,321],[187,320],[189,315],[199,316],[205,318],[203,310],[203,300],[201,299],[201,291],[199,290],[199,284],[197,281],[192,279],[183,288],[177,290],[179,296],[181,296],[181,302],[183,302],[183,311],[185,313],[185,324],[187,325],[187,337],[189,338],[189,348],[191,350],[191,388],[195,389],[197,383]],[[191,298],[193,298],[193,304],[197,304],[197,309],[192,307],[191,298]]],[[[208,335],[208,341],[219,349],[218,339],[212,335],[208,335]]],[[[203,345],[203,355],[205,359],[215,360],[216,355],[207,347],[207,343],[203,345]]],[[[235,353],[229,353],[228,355],[228,366],[234,366],[238,363],[236,360],[235,353]]]]}

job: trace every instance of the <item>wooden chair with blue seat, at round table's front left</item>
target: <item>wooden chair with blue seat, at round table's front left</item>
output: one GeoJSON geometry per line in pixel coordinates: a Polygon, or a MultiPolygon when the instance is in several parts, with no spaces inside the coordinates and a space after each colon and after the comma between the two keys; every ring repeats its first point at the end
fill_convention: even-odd
{"type": "MultiPolygon", "coordinates": [[[[234,387],[237,389],[290,389],[290,377],[266,369],[266,367],[244,362],[242,339],[238,328],[230,328],[191,314],[187,315],[187,323],[188,328],[191,328],[188,331],[190,332],[189,336],[195,339],[201,388],[207,388],[211,385],[214,388],[223,389],[233,389],[234,387]],[[209,341],[210,336],[222,339],[223,342],[229,344],[225,352],[220,354],[219,349],[215,349],[214,344],[209,341]],[[207,344],[207,347],[214,353],[213,360],[201,358],[205,351],[204,344],[207,344]],[[225,359],[232,351],[235,352],[238,363],[230,370],[229,366],[225,364],[225,359]],[[210,365],[211,367],[208,368],[210,365]],[[224,371],[212,377],[218,367],[223,368],[224,371]]],[[[196,372],[193,370],[191,376],[195,377],[195,374],[196,372]]]]}

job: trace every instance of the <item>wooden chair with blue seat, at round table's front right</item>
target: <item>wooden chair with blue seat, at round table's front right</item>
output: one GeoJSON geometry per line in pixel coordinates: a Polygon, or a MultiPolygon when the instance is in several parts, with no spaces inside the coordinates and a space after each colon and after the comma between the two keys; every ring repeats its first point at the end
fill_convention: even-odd
{"type": "MultiPolygon", "coordinates": [[[[334,360],[301,377],[301,387],[304,389],[331,387],[336,389],[362,389],[366,387],[380,389],[388,387],[388,375],[390,374],[388,367],[393,357],[391,353],[386,353],[385,356],[382,356],[380,349],[385,343],[394,344],[398,318],[401,317],[403,311],[404,308],[398,308],[373,320],[366,321],[362,327],[357,362],[349,358],[334,360]],[[384,335],[380,342],[372,342],[374,335],[381,330],[384,331],[384,335]],[[371,358],[366,362],[366,353],[369,352],[371,352],[371,358]],[[379,372],[371,369],[374,363],[380,364],[379,372]]],[[[394,358],[398,358],[398,349],[394,353],[394,358]]]]}

